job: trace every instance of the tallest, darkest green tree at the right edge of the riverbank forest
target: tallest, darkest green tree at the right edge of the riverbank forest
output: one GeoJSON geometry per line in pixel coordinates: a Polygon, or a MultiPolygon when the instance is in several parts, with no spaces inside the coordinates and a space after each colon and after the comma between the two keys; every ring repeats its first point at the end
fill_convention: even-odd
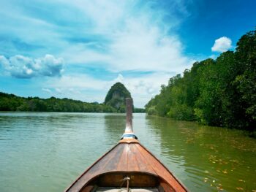
{"type": "Polygon", "coordinates": [[[236,62],[241,66],[233,85],[241,95],[246,123],[255,126],[256,120],[256,31],[250,31],[238,41],[236,62]]]}

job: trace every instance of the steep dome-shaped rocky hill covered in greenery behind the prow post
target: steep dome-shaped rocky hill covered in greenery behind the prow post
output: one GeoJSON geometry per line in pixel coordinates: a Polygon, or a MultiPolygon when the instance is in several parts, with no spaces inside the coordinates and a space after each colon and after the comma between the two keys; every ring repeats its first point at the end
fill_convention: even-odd
{"type": "Polygon", "coordinates": [[[131,97],[131,93],[121,82],[116,82],[105,97],[105,105],[113,107],[117,112],[125,112],[125,99],[131,97]]]}

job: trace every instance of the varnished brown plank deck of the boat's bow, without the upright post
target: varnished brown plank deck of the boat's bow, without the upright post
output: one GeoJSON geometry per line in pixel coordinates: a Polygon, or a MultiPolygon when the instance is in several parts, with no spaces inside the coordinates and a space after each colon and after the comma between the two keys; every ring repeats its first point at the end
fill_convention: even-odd
{"type": "Polygon", "coordinates": [[[137,139],[122,139],[118,145],[99,158],[67,191],[80,191],[94,177],[110,172],[141,172],[160,177],[171,186],[170,191],[187,191],[176,177],[137,139]]]}

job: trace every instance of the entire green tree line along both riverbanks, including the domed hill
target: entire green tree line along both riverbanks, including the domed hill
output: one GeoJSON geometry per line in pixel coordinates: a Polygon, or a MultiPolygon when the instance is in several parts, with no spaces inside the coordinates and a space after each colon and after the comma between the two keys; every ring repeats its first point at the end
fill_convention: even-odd
{"type": "MultiPolygon", "coordinates": [[[[124,112],[124,98],[130,96],[120,82],[110,88],[102,104],[53,96],[25,98],[0,92],[0,111],[124,112]]],[[[244,34],[235,51],[195,62],[182,76],[171,77],[145,108],[134,108],[134,112],[238,128],[255,134],[256,30],[244,34]]]]}

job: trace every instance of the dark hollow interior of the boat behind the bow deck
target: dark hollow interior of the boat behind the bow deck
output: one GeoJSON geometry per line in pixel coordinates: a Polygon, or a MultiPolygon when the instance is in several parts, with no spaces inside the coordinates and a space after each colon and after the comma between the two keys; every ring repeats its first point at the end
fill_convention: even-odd
{"type": "Polygon", "coordinates": [[[156,175],[141,172],[113,172],[94,177],[81,192],[164,192],[174,191],[156,175]]]}

